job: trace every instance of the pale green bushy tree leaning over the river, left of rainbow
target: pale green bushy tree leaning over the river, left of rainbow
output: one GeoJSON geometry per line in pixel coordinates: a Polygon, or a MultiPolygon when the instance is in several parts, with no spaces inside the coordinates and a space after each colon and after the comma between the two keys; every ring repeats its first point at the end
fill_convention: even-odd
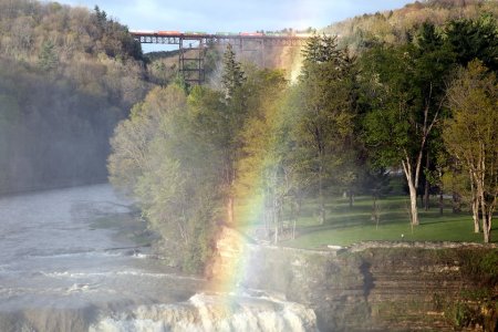
{"type": "MultiPolygon", "coordinates": [[[[196,91],[203,94],[201,89],[196,91]]],[[[156,87],[113,137],[111,181],[139,199],[179,263],[199,272],[215,235],[220,159],[206,141],[206,113],[175,85],[156,87]]]]}

